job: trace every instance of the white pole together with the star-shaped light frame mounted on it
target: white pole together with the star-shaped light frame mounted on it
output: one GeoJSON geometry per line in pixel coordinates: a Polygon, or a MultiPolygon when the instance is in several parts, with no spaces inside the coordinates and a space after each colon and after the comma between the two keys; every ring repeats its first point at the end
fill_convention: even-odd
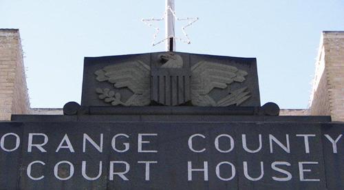
{"type": "Polygon", "coordinates": [[[166,9],[164,12],[164,15],[160,19],[142,19],[142,22],[148,25],[149,27],[154,28],[155,33],[153,34],[153,43],[152,45],[158,45],[162,42],[166,42],[166,50],[167,51],[174,51],[175,50],[175,40],[181,41],[183,43],[190,44],[191,41],[189,39],[189,35],[186,33],[186,28],[191,26],[193,23],[195,23],[198,20],[198,17],[194,18],[185,18],[181,19],[178,18],[174,11],[174,1],[173,0],[166,0],[166,9]],[[176,21],[188,21],[186,25],[182,27],[182,32],[184,34],[184,37],[178,37],[175,36],[174,28],[175,28],[175,20],[176,21]],[[160,32],[160,28],[156,27],[154,25],[155,21],[165,21],[165,39],[162,39],[160,41],[156,41],[156,38],[160,32]]]}

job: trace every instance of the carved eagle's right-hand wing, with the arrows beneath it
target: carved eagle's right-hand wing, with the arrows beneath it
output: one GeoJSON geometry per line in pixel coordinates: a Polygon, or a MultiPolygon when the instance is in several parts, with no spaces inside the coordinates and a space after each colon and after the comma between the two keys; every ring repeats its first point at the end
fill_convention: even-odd
{"type": "Polygon", "coordinates": [[[191,94],[193,105],[200,106],[228,106],[239,105],[250,97],[246,92],[247,87],[230,92],[228,96],[215,102],[211,96],[208,96],[214,88],[225,89],[234,82],[245,81],[248,74],[244,70],[238,70],[237,67],[213,63],[209,61],[200,61],[191,67],[191,94]]]}

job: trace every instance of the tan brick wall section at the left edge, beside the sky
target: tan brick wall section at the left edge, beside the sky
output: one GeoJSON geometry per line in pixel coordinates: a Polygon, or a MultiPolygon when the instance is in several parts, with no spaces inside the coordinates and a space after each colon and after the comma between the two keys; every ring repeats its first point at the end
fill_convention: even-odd
{"type": "Polygon", "coordinates": [[[30,109],[19,30],[0,29],[0,120],[30,109]]]}

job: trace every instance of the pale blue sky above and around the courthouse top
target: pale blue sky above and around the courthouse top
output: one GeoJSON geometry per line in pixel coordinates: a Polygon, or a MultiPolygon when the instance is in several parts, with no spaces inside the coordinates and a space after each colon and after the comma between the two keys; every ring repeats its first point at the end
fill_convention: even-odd
{"type": "MultiPolygon", "coordinates": [[[[344,30],[343,0],[175,0],[175,11],[200,17],[178,52],[256,57],[261,103],[281,108],[308,107],[321,32],[344,30]]],[[[140,21],[163,12],[164,0],[0,0],[0,28],[20,30],[31,106],[63,107],[80,103],[85,56],[164,51],[140,21]]]]}

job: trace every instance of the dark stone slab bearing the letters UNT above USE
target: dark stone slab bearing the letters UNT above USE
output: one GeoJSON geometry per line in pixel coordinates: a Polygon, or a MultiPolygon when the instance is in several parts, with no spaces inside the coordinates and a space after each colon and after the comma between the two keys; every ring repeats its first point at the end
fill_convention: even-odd
{"type": "MultiPolygon", "coordinates": [[[[239,173],[239,187],[242,189],[326,189],[325,169],[323,166],[323,155],[321,146],[321,132],[319,124],[291,124],[291,123],[264,123],[264,124],[237,124],[237,145],[243,146],[242,134],[246,134],[247,147],[255,150],[259,148],[259,134],[261,134],[261,151],[249,153],[237,151],[237,161],[240,162],[237,170],[239,173]],[[283,150],[272,140],[272,153],[270,149],[270,137],[274,136],[283,145],[287,146],[289,136],[290,153],[283,150]],[[300,134],[312,134],[315,137],[309,138],[310,154],[305,153],[305,143],[300,134]],[[244,164],[246,161],[248,175],[252,178],[259,178],[261,175],[261,162],[264,165],[264,176],[259,181],[248,180],[244,176],[244,164]],[[280,169],[288,171],[292,178],[287,181],[277,181],[272,177],[283,178],[287,175],[272,169],[273,162],[288,162],[288,165],[277,165],[280,169]],[[299,177],[299,162],[318,162],[316,165],[307,165],[305,169],[312,169],[312,172],[304,172],[305,178],[316,178],[319,181],[301,181],[299,177]],[[311,173],[311,174],[310,174],[311,173]]],[[[305,165],[305,164],[303,164],[305,165]]]]}

